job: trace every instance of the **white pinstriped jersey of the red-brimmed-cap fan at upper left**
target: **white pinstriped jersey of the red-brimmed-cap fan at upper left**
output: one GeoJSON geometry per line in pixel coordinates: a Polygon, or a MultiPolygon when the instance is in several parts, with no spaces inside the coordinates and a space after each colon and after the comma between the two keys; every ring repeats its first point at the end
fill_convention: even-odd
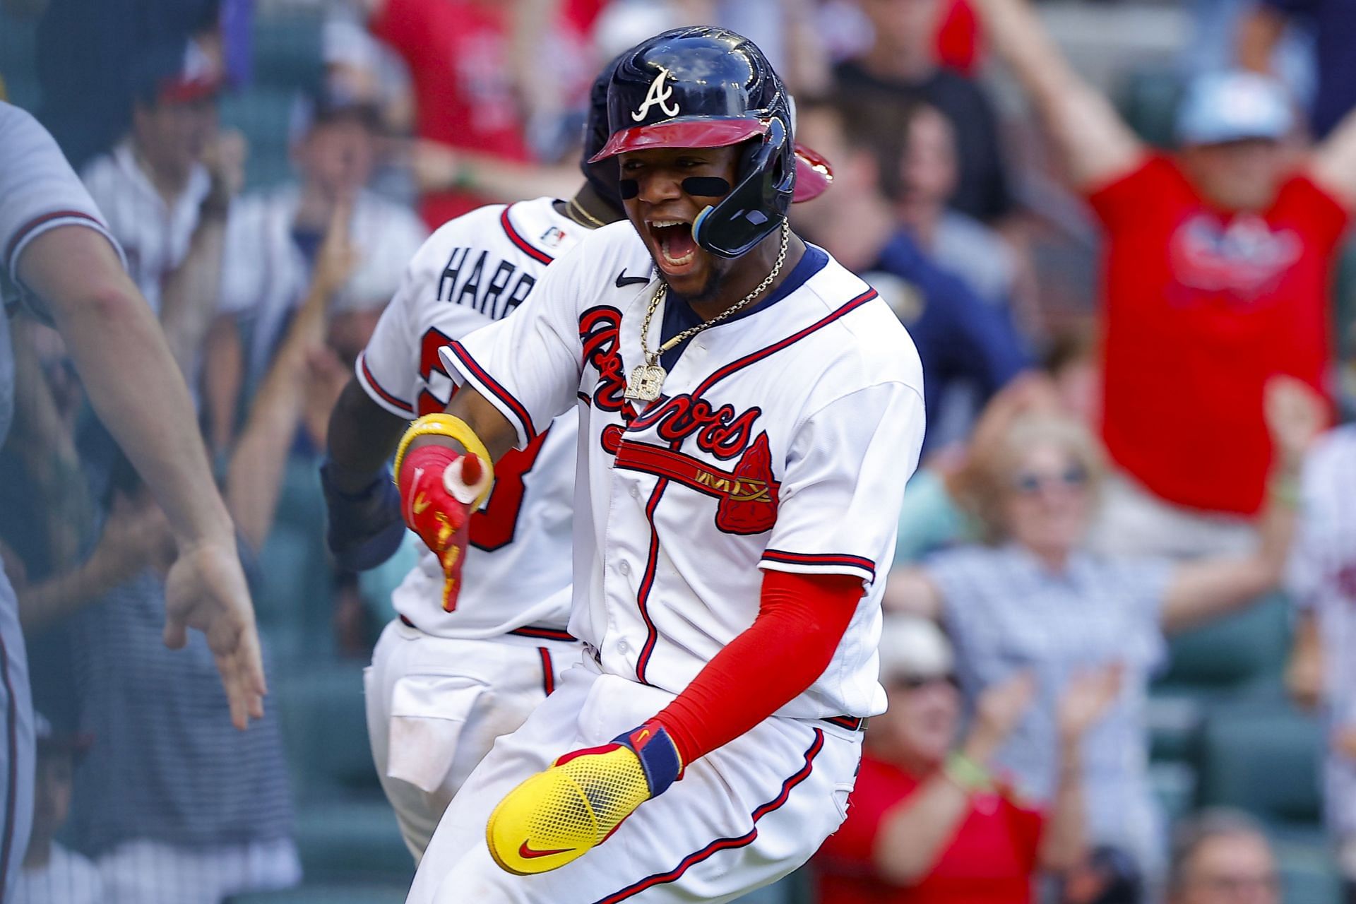
{"type": "Polygon", "coordinates": [[[206,167],[194,164],[188,184],[170,206],[141,171],[130,141],[91,160],[81,178],[122,244],[127,272],[159,314],[164,279],[188,255],[198,209],[212,188],[206,167]]]}

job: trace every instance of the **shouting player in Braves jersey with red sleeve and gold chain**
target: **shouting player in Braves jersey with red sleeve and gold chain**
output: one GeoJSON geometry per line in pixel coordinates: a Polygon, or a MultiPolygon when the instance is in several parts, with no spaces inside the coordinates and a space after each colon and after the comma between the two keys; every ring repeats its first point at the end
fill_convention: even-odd
{"type": "Polygon", "coordinates": [[[838,827],[884,709],[876,568],[923,435],[913,343],[791,232],[789,103],[751,42],[643,42],[607,118],[594,160],[617,161],[629,222],[441,351],[462,388],[396,457],[456,604],[492,462],[579,412],[586,656],[462,785],[416,904],[732,900],[838,827]]]}

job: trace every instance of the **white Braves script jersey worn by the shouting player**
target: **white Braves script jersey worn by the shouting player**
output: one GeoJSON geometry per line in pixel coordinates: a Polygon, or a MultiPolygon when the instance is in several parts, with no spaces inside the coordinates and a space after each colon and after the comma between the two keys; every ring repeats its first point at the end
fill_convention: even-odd
{"type": "Polygon", "coordinates": [[[570,632],[605,674],[677,693],[753,623],[759,569],[854,575],[866,592],[833,661],[778,714],[884,712],[876,571],[923,436],[913,342],[875,290],[811,247],[767,300],[698,333],[641,409],[624,392],[651,274],[632,225],[606,226],[545,272],[532,304],[441,352],[521,447],[580,411],[570,632]]]}

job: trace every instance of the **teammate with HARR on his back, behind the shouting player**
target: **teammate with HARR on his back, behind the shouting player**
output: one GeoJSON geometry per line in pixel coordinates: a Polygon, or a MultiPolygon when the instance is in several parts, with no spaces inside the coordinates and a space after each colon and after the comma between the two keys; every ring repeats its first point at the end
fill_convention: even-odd
{"type": "MultiPolygon", "coordinates": [[[[491,205],[445,224],[411,260],[358,356],[321,469],[340,565],[370,568],[405,533],[385,462],[411,419],[452,397],[438,350],[509,314],[555,258],[622,217],[616,179],[587,164],[607,140],[605,76],[591,98],[579,192],[491,205]]],[[[400,617],[366,674],[367,732],[415,862],[494,740],[522,725],[579,659],[565,630],[578,424],[567,412],[500,462],[494,492],[471,519],[465,592],[445,598],[430,552],[393,594],[400,617]]]]}

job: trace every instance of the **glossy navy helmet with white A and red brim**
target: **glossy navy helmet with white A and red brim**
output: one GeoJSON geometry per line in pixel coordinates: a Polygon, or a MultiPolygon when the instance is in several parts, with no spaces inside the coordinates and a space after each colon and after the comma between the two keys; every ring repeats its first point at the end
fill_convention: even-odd
{"type": "Polygon", "coordinates": [[[753,41],[725,28],[674,28],[617,60],[607,88],[607,142],[590,161],[648,148],[747,142],[736,184],[692,226],[698,245],[738,258],[786,218],[797,169],[792,127],[786,89],[753,41]]]}

